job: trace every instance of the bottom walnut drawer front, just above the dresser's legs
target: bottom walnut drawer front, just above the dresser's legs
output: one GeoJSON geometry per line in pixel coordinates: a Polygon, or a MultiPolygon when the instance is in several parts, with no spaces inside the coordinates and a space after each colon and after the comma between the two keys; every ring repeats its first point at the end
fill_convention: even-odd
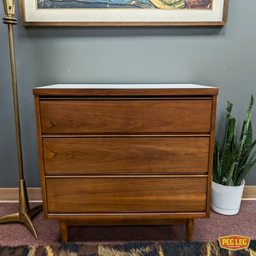
{"type": "Polygon", "coordinates": [[[205,212],[207,177],[46,178],[49,214],[205,212]]]}

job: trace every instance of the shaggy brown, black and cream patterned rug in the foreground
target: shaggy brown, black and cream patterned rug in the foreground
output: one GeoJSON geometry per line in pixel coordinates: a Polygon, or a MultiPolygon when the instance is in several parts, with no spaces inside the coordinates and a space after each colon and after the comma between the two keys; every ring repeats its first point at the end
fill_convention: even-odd
{"type": "Polygon", "coordinates": [[[126,244],[85,245],[67,243],[60,246],[2,246],[0,256],[255,256],[256,240],[249,247],[229,251],[218,242],[132,242],[126,244]]]}

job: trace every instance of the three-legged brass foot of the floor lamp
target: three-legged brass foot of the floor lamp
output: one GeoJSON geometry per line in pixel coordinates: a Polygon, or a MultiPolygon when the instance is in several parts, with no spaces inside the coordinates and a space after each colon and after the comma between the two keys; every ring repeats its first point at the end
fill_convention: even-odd
{"type": "Polygon", "coordinates": [[[0,223],[23,223],[31,231],[33,236],[38,239],[38,235],[33,227],[31,218],[42,211],[42,205],[29,208],[29,199],[27,197],[27,188],[25,180],[19,181],[19,212],[8,214],[0,218],[0,223]]]}

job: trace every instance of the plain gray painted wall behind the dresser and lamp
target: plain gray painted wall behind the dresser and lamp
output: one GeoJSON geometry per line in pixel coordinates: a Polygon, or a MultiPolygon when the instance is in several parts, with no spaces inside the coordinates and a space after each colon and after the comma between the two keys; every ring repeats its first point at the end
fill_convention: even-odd
{"type": "MultiPolygon", "coordinates": [[[[225,27],[14,26],[27,186],[40,187],[33,87],[54,83],[212,85],[219,87],[216,135],[223,135],[228,99],[240,124],[251,94],[256,101],[256,1],[229,2],[225,27]]],[[[0,9],[0,17],[5,17],[2,5],[0,9]]],[[[20,20],[18,3],[15,16],[20,20]]],[[[0,35],[0,187],[17,187],[8,29],[3,23],[0,35]]],[[[252,119],[256,130],[256,102],[252,119]]],[[[256,167],[246,185],[256,185],[256,167]]]]}

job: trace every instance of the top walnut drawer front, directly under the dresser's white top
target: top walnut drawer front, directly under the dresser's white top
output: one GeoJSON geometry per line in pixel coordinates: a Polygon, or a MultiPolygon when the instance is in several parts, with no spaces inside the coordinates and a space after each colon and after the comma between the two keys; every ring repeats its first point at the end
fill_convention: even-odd
{"type": "Polygon", "coordinates": [[[212,100],[41,100],[42,133],[210,132],[212,100]]]}

